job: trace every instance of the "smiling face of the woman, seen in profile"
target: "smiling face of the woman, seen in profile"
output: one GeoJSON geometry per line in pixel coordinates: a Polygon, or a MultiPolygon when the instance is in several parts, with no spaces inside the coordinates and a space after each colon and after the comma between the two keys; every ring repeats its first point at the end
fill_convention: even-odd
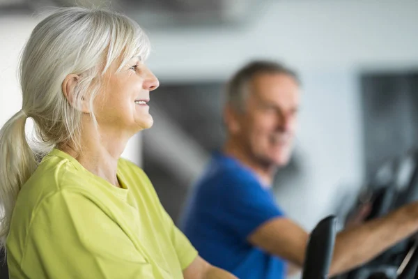
{"type": "Polygon", "coordinates": [[[119,63],[114,61],[104,75],[94,100],[94,113],[101,132],[133,135],[153,126],[148,101],[150,91],[160,84],[140,57],[134,57],[116,73],[119,63]]]}

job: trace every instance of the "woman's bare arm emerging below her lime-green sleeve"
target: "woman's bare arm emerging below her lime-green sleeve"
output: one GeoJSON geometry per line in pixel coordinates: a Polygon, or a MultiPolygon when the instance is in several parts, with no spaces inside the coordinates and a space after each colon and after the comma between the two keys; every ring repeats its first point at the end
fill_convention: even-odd
{"type": "Polygon", "coordinates": [[[231,273],[212,266],[200,256],[183,271],[185,279],[236,279],[231,273]]]}

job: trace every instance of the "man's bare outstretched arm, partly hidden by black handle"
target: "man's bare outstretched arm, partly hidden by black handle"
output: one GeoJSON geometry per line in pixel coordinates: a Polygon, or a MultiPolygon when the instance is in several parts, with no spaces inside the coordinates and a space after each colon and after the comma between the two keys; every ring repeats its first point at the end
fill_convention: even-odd
{"type": "MultiPolygon", "coordinates": [[[[418,231],[418,203],[408,204],[383,218],[346,229],[336,236],[330,275],[368,262],[418,231]]],[[[288,218],[274,218],[248,240],[255,246],[302,267],[309,234],[288,218]]]]}

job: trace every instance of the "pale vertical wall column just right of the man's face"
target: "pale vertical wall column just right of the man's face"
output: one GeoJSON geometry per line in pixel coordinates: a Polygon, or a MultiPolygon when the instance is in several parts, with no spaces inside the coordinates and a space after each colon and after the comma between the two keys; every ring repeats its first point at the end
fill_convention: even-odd
{"type": "Polygon", "coordinates": [[[304,175],[279,185],[277,199],[289,216],[311,229],[327,214],[347,211],[362,186],[362,127],[353,71],[309,72],[302,78],[297,150],[304,175]]]}

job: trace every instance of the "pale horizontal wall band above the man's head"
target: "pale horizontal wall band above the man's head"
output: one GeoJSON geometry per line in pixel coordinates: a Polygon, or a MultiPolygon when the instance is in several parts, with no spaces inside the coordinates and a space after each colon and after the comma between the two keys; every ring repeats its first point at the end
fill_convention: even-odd
{"type": "Polygon", "coordinates": [[[153,31],[153,70],[171,79],[224,78],[254,56],[302,73],[418,63],[418,1],[266,2],[243,27],[153,31]]]}

